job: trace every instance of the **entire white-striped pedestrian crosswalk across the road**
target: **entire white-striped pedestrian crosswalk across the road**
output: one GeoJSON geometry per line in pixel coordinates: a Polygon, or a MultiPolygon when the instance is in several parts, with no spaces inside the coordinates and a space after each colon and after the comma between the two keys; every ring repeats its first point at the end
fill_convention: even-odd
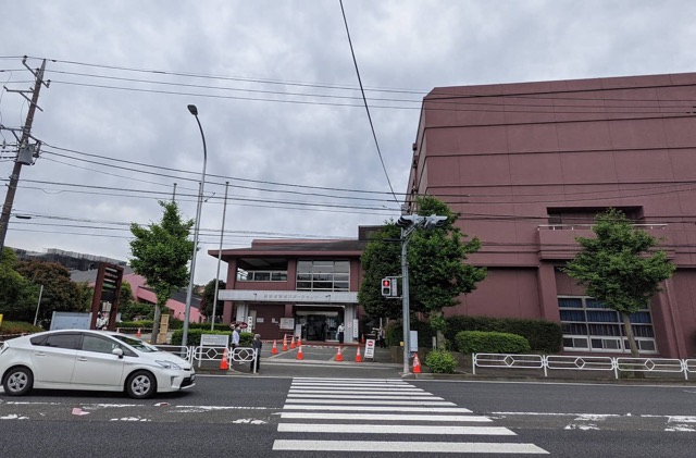
{"type": "Polygon", "coordinates": [[[547,454],[534,444],[510,442],[517,434],[490,425],[488,417],[458,407],[402,380],[294,379],[281,413],[281,435],[300,433],[302,440],[282,436],[274,450],[371,451],[443,454],[547,454]],[[438,424],[434,424],[437,422],[438,424]],[[464,423],[464,424],[462,424],[464,423]],[[481,423],[481,424],[477,424],[481,423]],[[325,441],[326,434],[360,435],[358,440],[325,441]],[[364,441],[380,434],[443,436],[442,441],[364,441]],[[463,437],[500,437],[498,442],[467,442],[463,437]],[[446,438],[447,437],[447,438],[446,438]],[[456,437],[461,437],[458,442],[456,437]],[[502,440],[502,437],[508,437],[502,440]],[[314,440],[315,438],[315,440],[314,440]]]}

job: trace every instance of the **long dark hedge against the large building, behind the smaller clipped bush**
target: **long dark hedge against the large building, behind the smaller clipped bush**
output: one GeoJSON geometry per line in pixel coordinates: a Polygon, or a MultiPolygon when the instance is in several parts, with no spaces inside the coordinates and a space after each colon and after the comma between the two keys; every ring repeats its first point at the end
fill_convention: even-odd
{"type": "Polygon", "coordinates": [[[559,323],[546,320],[457,315],[447,319],[445,337],[456,342],[461,331],[485,331],[521,335],[533,351],[557,354],[562,348],[563,333],[559,323]]]}

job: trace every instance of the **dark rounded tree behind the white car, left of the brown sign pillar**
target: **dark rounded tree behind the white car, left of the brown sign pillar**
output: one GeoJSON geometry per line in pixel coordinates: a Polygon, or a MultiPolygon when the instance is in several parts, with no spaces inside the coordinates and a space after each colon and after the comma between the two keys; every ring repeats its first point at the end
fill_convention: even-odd
{"type": "Polygon", "coordinates": [[[29,283],[44,286],[38,313],[40,322],[50,322],[54,311],[85,311],[77,283],[70,278],[67,268],[58,262],[20,261],[17,272],[29,283]]]}

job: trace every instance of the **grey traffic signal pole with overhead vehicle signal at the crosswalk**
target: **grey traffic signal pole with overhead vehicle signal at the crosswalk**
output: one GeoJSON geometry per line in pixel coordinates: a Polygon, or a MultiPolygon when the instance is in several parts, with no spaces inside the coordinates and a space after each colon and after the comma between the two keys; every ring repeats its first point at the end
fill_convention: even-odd
{"type": "MultiPolygon", "coordinates": [[[[403,321],[403,373],[409,373],[409,356],[411,352],[411,310],[409,304],[409,261],[407,258],[407,246],[411,239],[411,235],[419,227],[432,230],[442,227],[447,221],[447,216],[438,216],[431,214],[430,216],[420,216],[418,214],[403,214],[396,222],[401,227],[401,304],[403,321]]],[[[418,347],[418,344],[417,344],[418,347]]]]}

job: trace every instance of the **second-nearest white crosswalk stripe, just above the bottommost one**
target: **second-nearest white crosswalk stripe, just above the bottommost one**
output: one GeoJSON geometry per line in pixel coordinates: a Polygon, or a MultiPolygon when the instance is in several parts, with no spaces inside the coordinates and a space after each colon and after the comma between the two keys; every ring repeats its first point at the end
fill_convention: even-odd
{"type": "Polygon", "coordinates": [[[279,433],[517,435],[499,426],[432,426],[423,424],[279,423],[279,433]]]}

